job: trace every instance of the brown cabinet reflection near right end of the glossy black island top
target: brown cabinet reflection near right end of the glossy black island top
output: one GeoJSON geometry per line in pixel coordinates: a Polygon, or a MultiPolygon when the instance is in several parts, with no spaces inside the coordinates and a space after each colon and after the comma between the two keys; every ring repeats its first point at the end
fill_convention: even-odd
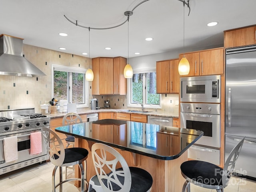
{"type": "Polygon", "coordinates": [[[180,152],[180,137],[163,132],[156,132],[156,152],[172,156],[180,152]]]}

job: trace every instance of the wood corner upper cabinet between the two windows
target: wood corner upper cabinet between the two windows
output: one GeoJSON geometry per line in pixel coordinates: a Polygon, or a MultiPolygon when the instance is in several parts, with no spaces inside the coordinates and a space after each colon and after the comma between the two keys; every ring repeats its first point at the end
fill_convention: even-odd
{"type": "Polygon", "coordinates": [[[124,67],[126,58],[104,58],[92,59],[92,94],[126,94],[127,80],[124,78],[124,67]]]}

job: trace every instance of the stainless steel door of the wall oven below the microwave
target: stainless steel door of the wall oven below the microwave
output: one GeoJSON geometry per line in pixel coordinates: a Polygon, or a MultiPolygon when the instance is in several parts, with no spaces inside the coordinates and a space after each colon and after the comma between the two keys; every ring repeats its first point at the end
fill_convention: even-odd
{"type": "Polygon", "coordinates": [[[196,144],[220,148],[220,115],[181,112],[180,127],[204,132],[196,144]]]}

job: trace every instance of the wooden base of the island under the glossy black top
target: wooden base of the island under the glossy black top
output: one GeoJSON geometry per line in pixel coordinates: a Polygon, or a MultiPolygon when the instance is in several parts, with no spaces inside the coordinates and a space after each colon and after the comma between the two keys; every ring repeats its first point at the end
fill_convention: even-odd
{"type": "MultiPolygon", "coordinates": [[[[83,147],[89,151],[86,160],[87,171],[86,180],[89,182],[90,178],[96,175],[94,165],[92,162],[91,146],[94,142],[76,138],[76,147],[83,147]]],[[[185,179],[180,173],[180,165],[187,161],[188,153],[184,152],[179,158],[174,160],[159,160],[148,156],[135,154],[129,151],[115,148],[126,160],[128,166],[140,167],[147,170],[153,178],[152,192],[178,192],[182,191],[182,186],[185,179]]],[[[78,166],[75,168],[75,176],[78,177],[80,171],[78,166]]],[[[79,187],[80,182],[76,181],[75,186],[79,187]]]]}

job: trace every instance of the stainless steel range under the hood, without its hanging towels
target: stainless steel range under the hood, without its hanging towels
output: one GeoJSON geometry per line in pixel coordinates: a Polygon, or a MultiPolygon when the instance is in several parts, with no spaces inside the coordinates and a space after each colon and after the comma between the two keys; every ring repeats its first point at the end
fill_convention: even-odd
{"type": "Polygon", "coordinates": [[[0,111],[0,175],[48,159],[43,143],[41,153],[30,155],[30,134],[41,132],[42,126],[50,127],[50,117],[36,114],[34,108],[0,111]],[[18,159],[5,162],[4,138],[11,136],[17,136],[18,159]]]}

